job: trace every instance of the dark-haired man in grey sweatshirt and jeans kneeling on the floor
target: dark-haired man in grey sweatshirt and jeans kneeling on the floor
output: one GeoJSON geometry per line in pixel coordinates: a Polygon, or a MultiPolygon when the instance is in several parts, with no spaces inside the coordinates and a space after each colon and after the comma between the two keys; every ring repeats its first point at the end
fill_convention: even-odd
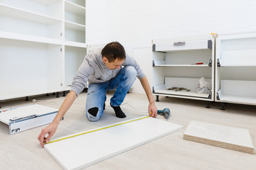
{"type": "Polygon", "coordinates": [[[119,42],[110,42],[102,50],[92,50],[85,56],[73,80],[70,92],[65,97],[58,114],[50,125],[44,128],[38,140],[48,143],[50,137],[54,135],[60,120],[63,118],[68,108],[77,98],[78,94],[85,88],[89,81],[86,100],[86,116],[91,121],[99,120],[105,109],[106,92],[116,90],[110,99],[110,106],[118,118],[125,118],[120,105],[124,97],[134,83],[136,77],[141,82],[146,96],[149,99],[149,115],[153,118],[157,115],[157,108],[154,103],[149,81],[139,67],[139,64],[129,55],[126,55],[124,47],[119,42]],[[46,134],[48,136],[46,137],[46,134]]]}

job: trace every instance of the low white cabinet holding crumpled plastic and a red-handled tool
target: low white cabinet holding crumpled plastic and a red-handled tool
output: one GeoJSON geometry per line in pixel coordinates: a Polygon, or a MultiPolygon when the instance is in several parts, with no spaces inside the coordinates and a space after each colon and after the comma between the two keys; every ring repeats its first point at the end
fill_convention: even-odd
{"type": "Polygon", "coordinates": [[[214,101],[214,88],[207,94],[196,92],[201,77],[214,85],[215,38],[212,35],[152,42],[152,86],[156,101],[159,96],[214,101]],[[189,91],[169,90],[171,87],[189,91]]]}

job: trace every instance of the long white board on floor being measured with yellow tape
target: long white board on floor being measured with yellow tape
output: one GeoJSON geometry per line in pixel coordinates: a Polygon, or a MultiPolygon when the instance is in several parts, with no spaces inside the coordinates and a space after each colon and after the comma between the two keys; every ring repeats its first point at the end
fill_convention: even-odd
{"type": "MultiPolygon", "coordinates": [[[[82,169],[182,128],[181,125],[156,118],[134,120],[129,123],[125,122],[130,120],[121,122],[124,124],[117,126],[107,125],[106,127],[112,127],[49,143],[44,148],[64,169],[82,169]]],[[[104,127],[98,129],[102,128],[104,127]]]]}

